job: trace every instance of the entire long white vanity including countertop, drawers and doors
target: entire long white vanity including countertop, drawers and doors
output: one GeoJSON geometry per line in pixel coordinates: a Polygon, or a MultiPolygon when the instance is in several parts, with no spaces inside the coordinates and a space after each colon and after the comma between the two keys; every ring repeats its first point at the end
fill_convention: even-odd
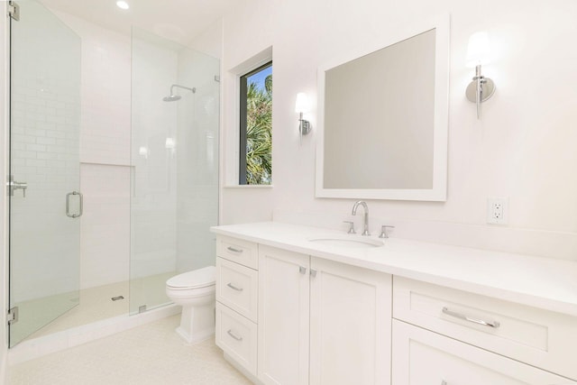
{"type": "Polygon", "coordinates": [[[577,385],[577,262],[316,231],[215,228],[216,344],[256,384],[577,385]]]}

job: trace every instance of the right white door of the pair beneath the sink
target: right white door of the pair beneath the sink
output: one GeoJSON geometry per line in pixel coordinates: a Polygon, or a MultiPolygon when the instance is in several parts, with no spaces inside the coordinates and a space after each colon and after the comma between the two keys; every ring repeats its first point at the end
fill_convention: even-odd
{"type": "Polygon", "coordinates": [[[389,384],[391,276],[311,259],[311,384],[389,384]]]}

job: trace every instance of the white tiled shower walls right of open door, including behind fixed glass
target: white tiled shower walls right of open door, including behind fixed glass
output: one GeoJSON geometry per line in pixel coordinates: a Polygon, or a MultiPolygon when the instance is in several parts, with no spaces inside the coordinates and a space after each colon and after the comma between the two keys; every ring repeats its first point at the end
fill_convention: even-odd
{"type": "Polygon", "coordinates": [[[81,287],[126,280],[129,270],[137,278],[214,264],[207,229],[218,215],[218,60],[138,31],[131,44],[58,16],[82,39],[81,287]],[[197,93],[177,88],[179,102],[161,102],[173,83],[197,93]]]}

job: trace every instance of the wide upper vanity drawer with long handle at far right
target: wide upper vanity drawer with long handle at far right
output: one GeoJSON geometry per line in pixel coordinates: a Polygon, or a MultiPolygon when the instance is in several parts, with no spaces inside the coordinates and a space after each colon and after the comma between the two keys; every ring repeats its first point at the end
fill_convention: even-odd
{"type": "Polygon", "coordinates": [[[393,317],[577,379],[577,318],[401,277],[393,317]]]}

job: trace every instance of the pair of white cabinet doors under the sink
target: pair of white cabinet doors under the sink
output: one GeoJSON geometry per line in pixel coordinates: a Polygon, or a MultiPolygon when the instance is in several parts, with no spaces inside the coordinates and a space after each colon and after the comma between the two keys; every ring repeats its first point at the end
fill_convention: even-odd
{"type": "Polygon", "coordinates": [[[260,245],[259,380],[389,384],[390,298],[389,274],[260,245]]]}

